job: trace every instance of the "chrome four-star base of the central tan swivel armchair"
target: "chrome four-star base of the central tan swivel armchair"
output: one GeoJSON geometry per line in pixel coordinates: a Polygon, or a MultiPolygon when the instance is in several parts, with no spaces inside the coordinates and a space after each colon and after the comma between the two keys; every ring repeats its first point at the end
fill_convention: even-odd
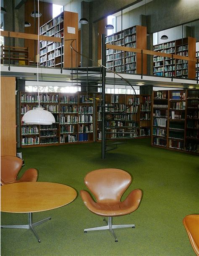
{"type": "Polygon", "coordinates": [[[116,228],[125,228],[125,227],[133,227],[135,228],[134,224],[129,224],[129,225],[113,225],[113,217],[108,217],[108,221],[106,219],[103,219],[107,226],[102,226],[102,227],[92,227],[92,228],[86,228],[84,229],[84,233],[86,233],[87,231],[93,231],[93,230],[109,230],[111,232],[111,234],[114,236],[115,238],[115,242],[118,242],[118,238],[115,235],[115,232],[113,229],[116,228]]]}

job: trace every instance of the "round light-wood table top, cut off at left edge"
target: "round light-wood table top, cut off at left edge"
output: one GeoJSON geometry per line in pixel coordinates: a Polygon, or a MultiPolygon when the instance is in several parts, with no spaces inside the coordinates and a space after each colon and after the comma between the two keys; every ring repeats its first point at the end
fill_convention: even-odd
{"type": "Polygon", "coordinates": [[[27,213],[47,211],[71,203],[76,190],[52,182],[18,182],[1,186],[1,211],[27,213]]]}

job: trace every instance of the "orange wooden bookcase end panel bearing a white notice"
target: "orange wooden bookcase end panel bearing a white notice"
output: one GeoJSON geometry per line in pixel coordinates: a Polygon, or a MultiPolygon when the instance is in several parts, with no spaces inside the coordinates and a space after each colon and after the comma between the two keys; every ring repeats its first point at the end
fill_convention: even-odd
{"type": "Polygon", "coordinates": [[[72,62],[71,63],[71,42],[76,39],[76,43],[73,42],[72,46],[78,50],[79,40],[78,40],[78,13],[73,13],[69,11],[64,11],[64,68],[75,68],[77,66],[76,59],[77,54],[72,51],[72,62]],[[75,34],[68,33],[68,27],[75,28],[75,34]]]}

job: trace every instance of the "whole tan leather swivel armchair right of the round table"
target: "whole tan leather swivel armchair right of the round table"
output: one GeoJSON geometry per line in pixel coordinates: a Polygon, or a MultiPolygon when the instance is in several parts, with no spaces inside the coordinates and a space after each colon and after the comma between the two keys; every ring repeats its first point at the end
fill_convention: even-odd
{"type": "Polygon", "coordinates": [[[104,219],[107,226],[87,228],[84,229],[84,232],[110,230],[115,242],[118,242],[113,229],[135,227],[135,225],[113,225],[113,216],[122,216],[135,211],[141,201],[141,190],[135,189],[131,191],[127,198],[121,202],[121,196],[131,183],[131,176],[128,172],[120,169],[108,168],[89,172],[84,178],[84,183],[96,198],[95,202],[88,192],[81,190],[80,195],[85,206],[94,214],[108,217],[108,221],[104,219]]]}

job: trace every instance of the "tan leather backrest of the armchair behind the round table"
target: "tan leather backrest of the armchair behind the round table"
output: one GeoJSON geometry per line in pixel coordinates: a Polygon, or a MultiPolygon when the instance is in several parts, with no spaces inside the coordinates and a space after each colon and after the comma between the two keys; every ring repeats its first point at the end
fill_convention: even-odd
{"type": "Polygon", "coordinates": [[[18,172],[23,161],[16,156],[1,156],[1,183],[13,183],[16,181],[18,172]]]}

